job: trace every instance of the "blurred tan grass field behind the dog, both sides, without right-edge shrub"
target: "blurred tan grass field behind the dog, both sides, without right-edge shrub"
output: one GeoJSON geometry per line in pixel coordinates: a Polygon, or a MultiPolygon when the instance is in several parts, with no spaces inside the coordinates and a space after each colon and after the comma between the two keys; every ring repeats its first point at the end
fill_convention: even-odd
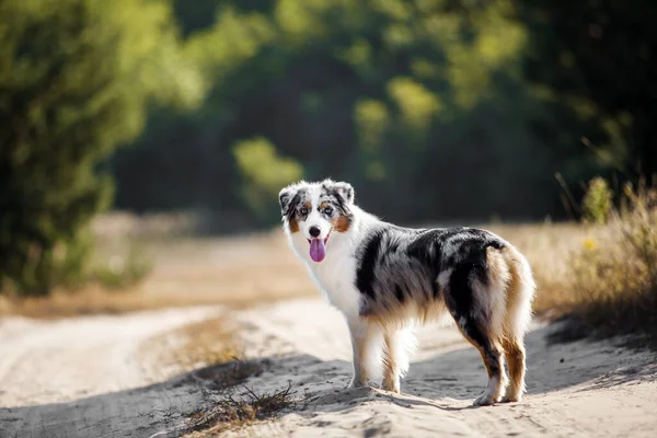
{"type": "MultiPolygon", "coordinates": [[[[125,254],[138,244],[153,268],[126,290],[90,287],[76,293],[57,291],[47,298],[0,296],[0,314],[60,318],[122,313],[166,307],[226,304],[234,308],[280,299],[316,296],[315,287],[287,247],[279,229],[234,238],[189,238],[176,234],[173,218],[130,220],[127,215],[99,218],[95,231],[101,260],[125,254]],[[173,232],[173,235],[172,235],[173,232]]],[[[187,220],[188,221],[188,220],[187,220]]],[[[581,247],[589,231],[578,224],[485,227],[514,242],[528,255],[540,285],[537,309],[558,309],[568,291],[567,254],[581,247]]]]}

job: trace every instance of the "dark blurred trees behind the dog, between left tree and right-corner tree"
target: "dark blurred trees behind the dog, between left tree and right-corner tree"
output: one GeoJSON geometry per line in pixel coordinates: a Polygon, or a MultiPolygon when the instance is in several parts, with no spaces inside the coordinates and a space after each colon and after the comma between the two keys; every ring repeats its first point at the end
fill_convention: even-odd
{"type": "Polygon", "coordinates": [[[209,208],[220,230],[275,223],[232,153],[256,137],[403,221],[558,214],[554,172],[586,161],[579,125],[523,80],[529,32],[511,0],[185,4],[186,54],[209,92],[193,113],[152,113],[113,158],[118,208],[209,208]]]}

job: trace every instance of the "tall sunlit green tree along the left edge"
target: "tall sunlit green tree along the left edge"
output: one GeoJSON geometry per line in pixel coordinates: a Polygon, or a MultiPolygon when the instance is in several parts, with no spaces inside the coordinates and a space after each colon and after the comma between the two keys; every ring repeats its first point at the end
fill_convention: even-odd
{"type": "Polygon", "coordinates": [[[168,2],[0,0],[0,290],[80,280],[90,219],[111,200],[99,163],[151,102],[194,104],[168,2]]]}

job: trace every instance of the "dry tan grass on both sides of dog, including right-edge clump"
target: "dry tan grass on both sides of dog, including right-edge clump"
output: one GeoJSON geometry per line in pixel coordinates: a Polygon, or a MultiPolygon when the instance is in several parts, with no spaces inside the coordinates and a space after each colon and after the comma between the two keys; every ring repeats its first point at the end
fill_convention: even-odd
{"type": "MultiPolygon", "coordinates": [[[[657,227],[650,222],[655,221],[652,217],[633,215],[616,212],[603,226],[545,222],[483,228],[500,234],[529,258],[539,285],[537,314],[576,314],[593,325],[608,324],[616,330],[625,315],[631,321],[642,321],[637,323],[641,325],[652,324],[648,316],[656,313],[653,303],[645,299],[655,293],[637,292],[654,285],[646,274],[652,262],[641,262],[637,256],[653,249],[650,239],[655,239],[657,227]]],[[[125,291],[60,291],[49,298],[0,297],[0,314],[57,318],[216,303],[242,308],[316,296],[279,229],[203,239],[174,232],[176,227],[186,230],[189,219],[174,218],[171,223],[163,217],[155,219],[152,226],[119,215],[118,219],[100,218],[95,227],[102,257],[125,253],[127,242],[137,242],[152,257],[152,273],[140,285],[125,291]]]]}

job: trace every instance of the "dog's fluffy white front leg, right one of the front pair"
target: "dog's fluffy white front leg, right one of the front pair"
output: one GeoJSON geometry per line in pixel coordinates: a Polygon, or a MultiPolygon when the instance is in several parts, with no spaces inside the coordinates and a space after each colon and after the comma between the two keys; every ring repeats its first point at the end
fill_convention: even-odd
{"type": "Polygon", "coordinates": [[[408,354],[415,346],[411,328],[389,328],[384,332],[383,382],[385,391],[400,393],[401,379],[408,371],[408,354]]]}

